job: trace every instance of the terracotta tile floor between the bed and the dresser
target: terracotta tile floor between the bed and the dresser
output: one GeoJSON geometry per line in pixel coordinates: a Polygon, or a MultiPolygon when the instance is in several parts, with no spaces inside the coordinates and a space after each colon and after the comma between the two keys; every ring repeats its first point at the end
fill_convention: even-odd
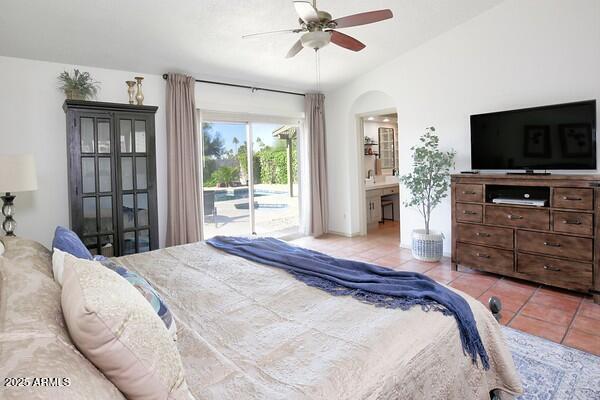
{"type": "Polygon", "coordinates": [[[500,322],[566,346],[600,355],[600,305],[591,297],[524,281],[477,272],[452,271],[450,260],[426,263],[398,246],[399,226],[386,221],[367,236],[303,237],[292,243],[335,257],[349,258],[404,271],[426,274],[487,304],[490,296],[502,301],[500,322]]]}

